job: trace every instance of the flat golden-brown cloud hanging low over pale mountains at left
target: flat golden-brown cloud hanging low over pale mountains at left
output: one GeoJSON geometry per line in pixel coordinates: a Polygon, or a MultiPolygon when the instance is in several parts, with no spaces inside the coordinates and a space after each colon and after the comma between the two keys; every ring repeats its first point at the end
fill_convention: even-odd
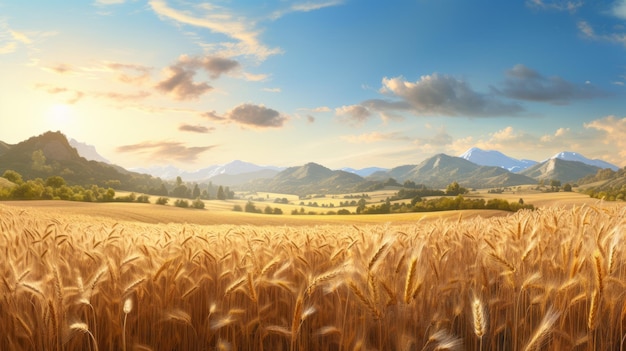
{"type": "Polygon", "coordinates": [[[116,151],[139,154],[149,161],[194,162],[202,153],[214,147],[216,146],[189,147],[177,141],[144,141],[138,144],[120,146],[116,151]]]}

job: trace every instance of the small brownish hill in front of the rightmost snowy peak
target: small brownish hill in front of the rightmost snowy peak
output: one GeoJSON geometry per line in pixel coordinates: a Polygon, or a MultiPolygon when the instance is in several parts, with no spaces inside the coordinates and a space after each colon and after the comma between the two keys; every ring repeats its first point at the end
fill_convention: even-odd
{"type": "Polygon", "coordinates": [[[560,180],[562,183],[575,182],[590,174],[595,174],[600,168],[579,161],[567,161],[560,158],[550,158],[544,162],[529,167],[520,174],[537,180],[560,180]]]}

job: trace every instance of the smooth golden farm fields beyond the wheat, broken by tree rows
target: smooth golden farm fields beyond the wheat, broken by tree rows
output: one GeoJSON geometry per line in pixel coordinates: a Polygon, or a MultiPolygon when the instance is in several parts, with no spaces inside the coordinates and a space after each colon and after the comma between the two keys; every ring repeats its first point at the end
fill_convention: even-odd
{"type": "MultiPolygon", "coordinates": [[[[369,193],[371,203],[377,203],[384,200],[388,196],[395,194],[395,191],[378,191],[369,193]]],[[[120,196],[125,193],[119,193],[120,196]]],[[[204,210],[195,209],[182,209],[174,206],[162,206],[154,204],[136,204],[136,203],[85,203],[85,202],[73,202],[73,201],[0,201],[0,204],[6,206],[20,207],[20,208],[32,208],[41,209],[50,213],[58,215],[64,214],[78,214],[87,215],[93,217],[111,218],[120,221],[139,221],[144,223],[194,223],[201,225],[215,225],[215,224],[233,224],[233,225],[322,225],[322,224],[376,224],[392,222],[395,224],[412,223],[415,221],[425,219],[442,219],[442,218],[472,218],[475,216],[480,217],[492,217],[492,216],[507,216],[509,212],[497,211],[497,210],[463,210],[463,211],[444,211],[444,212],[427,212],[427,213],[402,213],[402,214],[390,214],[390,215],[290,215],[292,210],[299,210],[304,208],[307,212],[314,211],[317,213],[326,212],[328,210],[338,210],[342,207],[338,207],[339,203],[346,201],[343,196],[336,196],[335,198],[319,198],[319,199],[307,199],[302,200],[304,203],[319,202],[333,204],[334,208],[323,207],[309,207],[298,205],[300,201],[293,199],[293,196],[283,194],[268,194],[259,193],[255,195],[256,198],[269,199],[264,202],[255,202],[259,209],[263,209],[265,206],[272,208],[280,208],[283,215],[267,215],[267,214],[255,214],[245,212],[232,211],[233,206],[239,205],[245,206],[247,200],[209,200],[205,202],[204,210]],[[269,196],[268,196],[269,195],[269,196]],[[274,203],[273,199],[287,197],[294,204],[279,204],[274,203]]],[[[488,194],[486,191],[473,192],[472,194],[464,195],[466,198],[501,198],[507,201],[517,201],[519,198],[523,198],[526,203],[533,204],[537,207],[542,206],[580,206],[583,204],[598,204],[599,200],[590,198],[587,195],[579,194],[575,192],[559,192],[559,193],[541,193],[536,191],[516,192],[514,194],[488,194]]],[[[151,201],[154,202],[156,197],[152,197],[151,201]]],[[[173,201],[173,200],[172,200],[173,201]]],[[[410,200],[401,200],[397,202],[407,202],[410,200]]],[[[619,203],[606,203],[608,206],[616,205],[619,203]]],[[[355,207],[345,207],[351,212],[355,211],[355,207]]]]}

